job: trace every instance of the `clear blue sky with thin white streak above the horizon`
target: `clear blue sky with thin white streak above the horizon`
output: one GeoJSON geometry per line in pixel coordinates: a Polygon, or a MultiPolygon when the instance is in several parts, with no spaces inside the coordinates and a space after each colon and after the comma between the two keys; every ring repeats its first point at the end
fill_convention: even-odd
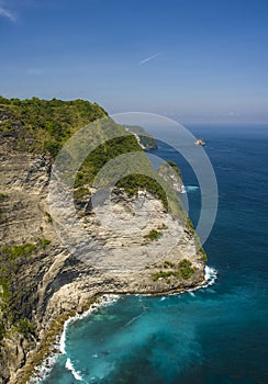
{"type": "Polygon", "coordinates": [[[0,94],[268,122],[267,0],[0,0],[0,94]]]}

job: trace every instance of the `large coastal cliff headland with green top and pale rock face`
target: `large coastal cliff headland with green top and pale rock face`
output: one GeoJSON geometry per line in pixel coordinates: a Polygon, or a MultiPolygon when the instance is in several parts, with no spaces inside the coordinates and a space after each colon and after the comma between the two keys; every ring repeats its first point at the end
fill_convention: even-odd
{"type": "MultiPolygon", "coordinates": [[[[204,280],[205,253],[176,200],[182,184],[176,165],[165,165],[168,173],[165,167],[159,170],[161,185],[171,185],[166,189],[157,177],[138,172],[115,185],[110,208],[122,226],[130,217],[144,223],[138,231],[119,236],[90,206],[101,167],[120,154],[143,151],[137,134],[91,154],[74,185],[78,221],[94,239],[96,252],[109,255],[110,268],[83,262],[60,242],[48,204],[54,159],[72,134],[98,118],[109,118],[112,128],[125,132],[96,103],[0,98],[0,383],[26,383],[53,352],[64,323],[99,295],[183,292],[204,280]]],[[[146,161],[144,155],[149,167],[146,161]]]]}

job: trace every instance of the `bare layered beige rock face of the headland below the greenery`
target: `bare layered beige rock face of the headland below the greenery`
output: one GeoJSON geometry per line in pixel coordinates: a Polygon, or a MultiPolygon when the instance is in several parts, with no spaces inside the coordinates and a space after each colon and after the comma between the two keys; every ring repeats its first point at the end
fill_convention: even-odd
{"type": "MultiPolygon", "coordinates": [[[[86,310],[98,295],[160,294],[194,287],[204,280],[205,257],[189,221],[175,218],[146,183],[134,193],[122,185],[113,190],[110,208],[122,226],[130,217],[136,225],[143,223],[141,230],[119,236],[88,207],[87,194],[90,196],[94,190],[83,180],[76,185],[79,223],[94,239],[92,260],[93,253],[101,250],[109,256],[109,268],[105,257],[98,263],[77,258],[60,242],[49,214],[53,154],[41,150],[42,139],[31,142],[27,125],[14,116],[12,108],[3,110],[0,383],[12,384],[29,380],[34,366],[52,353],[51,345],[64,321],[86,310]],[[31,151],[20,135],[31,142],[31,151]],[[85,189],[87,193],[80,193],[85,189]]],[[[47,136],[49,140],[57,142],[47,136]]],[[[132,137],[133,143],[137,146],[132,137]]]]}

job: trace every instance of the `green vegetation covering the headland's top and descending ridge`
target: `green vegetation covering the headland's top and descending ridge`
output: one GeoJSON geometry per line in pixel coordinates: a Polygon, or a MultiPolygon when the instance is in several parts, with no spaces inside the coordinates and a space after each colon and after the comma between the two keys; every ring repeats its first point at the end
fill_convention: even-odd
{"type": "MultiPolygon", "coordinates": [[[[62,101],[38,98],[19,100],[0,97],[0,137],[4,138],[5,144],[12,149],[31,153],[46,151],[53,158],[56,157],[70,136],[81,127],[92,123],[96,135],[90,138],[85,136],[85,143],[89,139],[94,142],[94,138],[98,137],[98,140],[101,139],[103,144],[86,158],[77,172],[74,182],[75,200],[83,200],[89,195],[89,188],[93,184],[96,176],[111,159],[127,153],[139,153],[139,163],[136,165],[134,171],[132,169],[129,172],[127,165],[125,168],[124,165],[120,165],[120,169],[115,169],[119,176],[132,173],[120,180],[116,187],[125,189],[130,194],[137,193],[139,188],[147,190],[163,202],[165,210],[170,208],[177,216],[183,215],[176,194],[168,187],[168,183],[165,184],[163,179],[152,169],[149,160],[143,154],[134,135],[125,135],[125,128],[108,117],[105,111],[98,104],[83,100],[62,101]],[[115,138],[105,140],[103,127],[104,132],[109,131],[115,138]],[[142,171],[143,174],[139,174],[138,171],[142,171]]],[[[145,133],[138,126],[133,129],[137,134],[145,133]]],[[[149,139],[147,144],[145,143],[146,145],[156,144],[153,137],[145,138],[149,139]]],[[[72,154],[64,154],[70,162],[74,156],[79,157],[82,151],[81,143],[74,150],[72,154]]],[[[66,174],[66,178],[68,177],[66,174]]],[[[107,180],[102,180],[102,184],[109,184],[109,181],[108,176],[107,180]]],[[[46,218],[48,223],[52,223],[48,213],[46,218]]]]}

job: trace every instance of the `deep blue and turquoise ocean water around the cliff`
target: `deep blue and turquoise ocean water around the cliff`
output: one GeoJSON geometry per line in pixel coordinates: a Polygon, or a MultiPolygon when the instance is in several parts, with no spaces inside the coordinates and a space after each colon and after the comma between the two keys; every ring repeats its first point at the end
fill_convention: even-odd
{"type": "MultiPolygon", "coordinates": [[[[40,383],[268,383],[268,126],[187,127],[204,137],[217,179],[204,245],[217,280],[180,295],[122,296],[71,323],[66,354],[40,383]]],[[[155,154],[179,162],[197,222],[193,172],[165,144],[155,154]]]]}

